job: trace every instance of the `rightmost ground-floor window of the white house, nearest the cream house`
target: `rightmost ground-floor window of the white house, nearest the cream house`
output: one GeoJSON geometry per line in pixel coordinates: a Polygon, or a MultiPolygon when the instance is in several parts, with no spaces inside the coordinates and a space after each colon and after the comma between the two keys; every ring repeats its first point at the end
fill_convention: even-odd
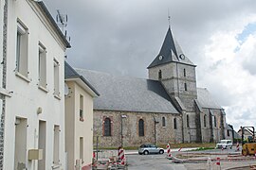
{"type": "Polygon", "coordinates": [[[60,127],[54,126],[53,163],[60,164],[60,127]]]}

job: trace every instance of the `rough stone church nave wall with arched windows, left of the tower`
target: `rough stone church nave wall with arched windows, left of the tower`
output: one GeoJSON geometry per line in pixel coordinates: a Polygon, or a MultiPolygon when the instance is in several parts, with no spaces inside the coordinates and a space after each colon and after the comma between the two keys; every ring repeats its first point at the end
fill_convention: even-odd
{"type": "Polygon", "coordinates": [[[94,144],[96,144],[96,136],[99,136],[99,146],[120,146],[121,115],[126,116],[126,118],[122,118],[123,146],[154,144],[155,139],[156,144],[167,144],[169,141],[171,143],[182,142],[182,117],[180,114],[94,110],[94,144]],[[106,117],[111,119],[111,136],[103,136],[103,123],[106,117]],[[157,124],[155,124],[154,117],[157,124]],[[165,127],[162,124],[163,117],[166,122],[165,127]],[[176,129],[174,129],[174,118],[176,119],[176,129]],[[139,119],[144,121],[144,136],[142,137],[138,135],[139,119]]]}

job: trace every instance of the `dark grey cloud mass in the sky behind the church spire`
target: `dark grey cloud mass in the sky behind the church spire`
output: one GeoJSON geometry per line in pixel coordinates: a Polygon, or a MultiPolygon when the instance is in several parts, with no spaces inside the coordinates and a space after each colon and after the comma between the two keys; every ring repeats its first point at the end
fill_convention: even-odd
{"type": "MultiPolygon", "coordinates": [[[[44,0],[53,15],[62,9],[69,16],[72,48],[67,61],[74,67],[114,75],[147,77],[168,28],[170,8],[174,37],[197,67],[198,81],[222,105],[231,105],[228,89],[205,78],[210,62],[203,52],[210,36],[233,27],[237,18],[255,13],[255,0],[44,0]],[[201,64],[201,65],[200,65],[201,64]],[[212,85],[210,85],[212,84],[212,85]],[[226,93],[220,96],[219,93],[226,93]]],[[[224,40],[225,41],[225,40],[224,40]]],[[[211,64],[211,63],[210,63],[211,64]]],[[[217,66],[217,65],[215,65],[217,66]]],[[[214,65],[212,65],[214,67],[214,65]]],[[[252,65],[244,63],[252,69],[252,65]]]]}

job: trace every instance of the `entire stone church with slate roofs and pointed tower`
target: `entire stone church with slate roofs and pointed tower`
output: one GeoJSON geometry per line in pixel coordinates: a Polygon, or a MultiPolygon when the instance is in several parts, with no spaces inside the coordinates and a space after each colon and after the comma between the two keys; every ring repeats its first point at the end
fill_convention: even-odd
{"type": "Polygon", "coordinates": [[[118,147],[225,139],[225,110],[196,86],[195,68],[169,26],[147,67],[148,78],[76,69],[100,93],[94,101],[94,142],[118,147]]]}

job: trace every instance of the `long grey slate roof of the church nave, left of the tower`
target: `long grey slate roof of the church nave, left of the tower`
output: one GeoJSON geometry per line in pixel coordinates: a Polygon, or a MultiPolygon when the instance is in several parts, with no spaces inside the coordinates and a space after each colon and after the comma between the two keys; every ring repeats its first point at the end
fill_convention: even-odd
{"type": "Polygon", "coordinates": [[[101,93],[95,110],[178,113],[159,81],[75,69],[101,93]]]}

